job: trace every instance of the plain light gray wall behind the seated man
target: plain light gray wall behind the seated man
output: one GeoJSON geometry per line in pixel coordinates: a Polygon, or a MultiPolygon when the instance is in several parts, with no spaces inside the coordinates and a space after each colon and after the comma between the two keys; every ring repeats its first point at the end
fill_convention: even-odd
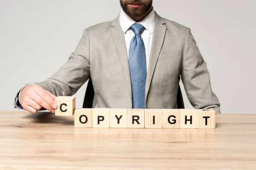
{"type": "MultiPolygon", "coordinates": [[[[154,0],[153,6],[191,28],[221,112],[256,113],[256,0],[154,0]]],[[[0,0],[0,110],[14,110],[22,85],[50,77],[84,28],[113,20],[120,9],[119,0],[0,0]]],[[[85,89],[75,95],[77,108],[85,89]]],[[[192,108],[184,90],[183,97],[192,108]]]]}

